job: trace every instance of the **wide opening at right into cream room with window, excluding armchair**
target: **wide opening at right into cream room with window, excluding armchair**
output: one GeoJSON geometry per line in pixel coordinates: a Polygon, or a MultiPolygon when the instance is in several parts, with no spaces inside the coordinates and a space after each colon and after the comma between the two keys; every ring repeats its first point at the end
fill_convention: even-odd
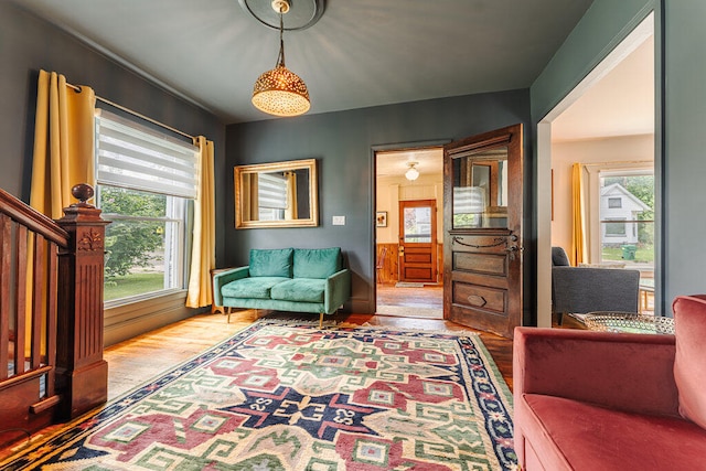
{"type": "Polygon", "coordinates": [[[564,247],[574,265],[640,270],[640,308],[657,311],[655,69],[650,13],[537,126],[537,188],[553,189],[537,195],[539,327],[552,325],[550,246],[564,247]],[[573,190],[582,202],[574,204],[573,190]]]}

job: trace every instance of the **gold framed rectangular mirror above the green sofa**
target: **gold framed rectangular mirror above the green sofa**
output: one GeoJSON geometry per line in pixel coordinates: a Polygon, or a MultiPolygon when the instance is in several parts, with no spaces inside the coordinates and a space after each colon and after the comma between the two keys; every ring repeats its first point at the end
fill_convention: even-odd
{"type": "Polygon", "coordinates": [[[235,227],[319,225],[317,160],[236,165],[235,227]]]}

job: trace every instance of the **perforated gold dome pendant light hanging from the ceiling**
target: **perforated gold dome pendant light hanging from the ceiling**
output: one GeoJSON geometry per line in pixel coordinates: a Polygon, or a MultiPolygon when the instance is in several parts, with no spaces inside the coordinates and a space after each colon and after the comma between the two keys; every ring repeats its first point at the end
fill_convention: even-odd
{"type": "Polygon", "coordinates": [[[279,56],[275,68],[260,75],[253,87],[253,105],[275,116],[303,115],[311,107],[307,84],[285,66],[284,17],[290,7],[289,0],[272,1],[279,13],[279,56]]]}

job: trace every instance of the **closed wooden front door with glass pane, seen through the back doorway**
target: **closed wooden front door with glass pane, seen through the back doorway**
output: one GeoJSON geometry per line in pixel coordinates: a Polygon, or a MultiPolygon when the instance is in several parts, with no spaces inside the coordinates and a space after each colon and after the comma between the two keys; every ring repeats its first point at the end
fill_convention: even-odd
{"type": "Polygon", "coordinates": [[[399,202],[399,281],[437,282],[437,202],[399,202]]]}

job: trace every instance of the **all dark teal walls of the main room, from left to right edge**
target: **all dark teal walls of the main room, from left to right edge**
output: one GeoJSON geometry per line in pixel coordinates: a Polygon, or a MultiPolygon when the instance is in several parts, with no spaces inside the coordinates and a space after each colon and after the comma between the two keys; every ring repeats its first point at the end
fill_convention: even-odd
{"type": "MultiPolygon", "coordinates": [[[[0,188],[28,200],[34,95],[40,68],[88,84],[99,96],[192,135],[215,141],[217,264],[247,261],[250,247],[332,246],[349,254],[356,307],[370,308],[373,255],[374,146],[451,140],[515,122],[525,124],[526,258],[532,264],[534,125],[576,86],[651,9],[656,9],[657,171],[662,207],[663,308],[674,296],[705,292],[706,255],[706,2],[703,0],[596,0],[528,90],[453,97],[360,110],[236,125],[150,84],[68,34],[11,2],[0,2],[0,188]],[[662,75],[663,71],[663,75],[662,75]],[[227,153],[226,153],[227,148],[227,153]],[[314,157],[320,164],[321,226],[235,231],[233,167],[314,157]],[[332,226],[333,215],[346,216],[332,226]]],[[[530,275],[530,278],[532,275],[530,275]]],[[[528,280],[531,283],[532,281],[528,280]]],[[[526,291],[532,286],[526,285],[526,291]]],[[[531,293],[530,293],[531,296],[531,293]]],[[[527,299],[525,299],[527,302],[527,299]]]]}

